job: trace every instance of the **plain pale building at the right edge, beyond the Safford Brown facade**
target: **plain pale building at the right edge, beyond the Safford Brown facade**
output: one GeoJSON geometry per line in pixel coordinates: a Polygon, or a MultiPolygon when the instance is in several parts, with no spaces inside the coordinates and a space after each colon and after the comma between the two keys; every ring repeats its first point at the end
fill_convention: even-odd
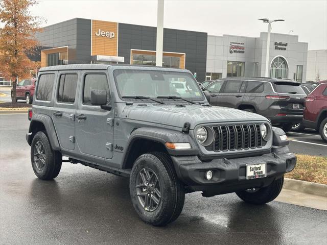
{"type": "Polygon", "coordinates": [[[309,50],[307,80],[327,80],[327,50],[309,50]]]}

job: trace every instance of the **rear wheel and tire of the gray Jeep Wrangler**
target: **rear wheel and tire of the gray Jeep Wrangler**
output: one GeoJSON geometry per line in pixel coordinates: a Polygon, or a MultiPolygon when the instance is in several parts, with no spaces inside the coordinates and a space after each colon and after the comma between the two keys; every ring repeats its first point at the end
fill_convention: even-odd
{"type": "Polygon", "coordinates": [[[52,180],[60,172],[62,156],[52,150],[48,137],[42,131],[37,132],[32,140],[31,161],[34,174],[41,180],[52,180]]]}

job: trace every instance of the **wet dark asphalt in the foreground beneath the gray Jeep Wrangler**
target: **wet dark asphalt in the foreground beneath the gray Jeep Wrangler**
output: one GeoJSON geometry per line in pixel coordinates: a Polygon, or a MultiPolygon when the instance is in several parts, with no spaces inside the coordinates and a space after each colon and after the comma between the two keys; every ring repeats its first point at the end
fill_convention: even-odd
{"type": "Polygon", "coordinates": [[[134,212],[127,178],[63,163],[53,181],[32,170],[27,115],[0,115],[0,244],[326,244],[327,211],[236,194],[186,194],[167,227],[134,212]]]}

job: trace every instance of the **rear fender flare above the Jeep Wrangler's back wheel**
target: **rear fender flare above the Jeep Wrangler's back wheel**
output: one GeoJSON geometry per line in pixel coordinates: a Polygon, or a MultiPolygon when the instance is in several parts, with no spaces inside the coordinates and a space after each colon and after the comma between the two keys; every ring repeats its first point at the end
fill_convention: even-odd
{"type": "Polygon", "coordinates": [[[33,122],[38,121],[41,122],[44,125],[46,134],[48,134],[48,139],[50,141],[50,145],[52,147],[52,150],[54,151],[59,151],[60,150],[60,144],[58,140],[58,136],[55,130],[55,126],[53,124],[52,118],[49,115],[45,114],[35,114],[33,115],[30,123],[30,128],[29,128],[29,134],[27,136],[27,141],[29,145],[32,144],[32,140],[34,137],[34,134],[36,133],[33,130],[33,122]]]}

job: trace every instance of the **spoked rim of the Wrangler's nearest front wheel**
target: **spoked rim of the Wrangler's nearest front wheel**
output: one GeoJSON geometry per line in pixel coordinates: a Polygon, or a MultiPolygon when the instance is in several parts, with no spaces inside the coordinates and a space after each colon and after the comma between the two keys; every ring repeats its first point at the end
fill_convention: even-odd
{"type": "Polygon", "coordinates": [[[156,210],[161,200],[161,189],[158,176],[151,168],[139,171],[136,178],[136,195],[139,204],[148,212],[156,210]]]}

